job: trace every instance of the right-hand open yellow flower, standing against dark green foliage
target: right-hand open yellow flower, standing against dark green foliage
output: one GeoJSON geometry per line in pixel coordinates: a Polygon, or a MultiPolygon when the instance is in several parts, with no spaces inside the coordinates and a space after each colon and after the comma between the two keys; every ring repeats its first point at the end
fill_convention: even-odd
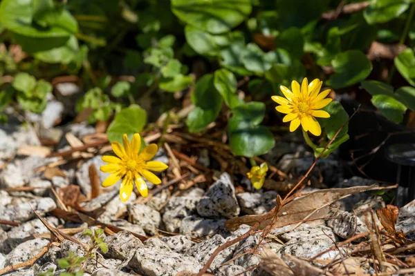
{"type": "Polygon", "coordinates": [[[327,106],[332,100],[326,98],[330,89],[320,92],[322,81],[315,79],[308,84],[307,78],[304,78],[299,87],[297,81],[291,83],[291,90],[285,86],[280,86],[284,97],[273,96],[272,99],[279,103],[275,109],[278,112],[286,114],[282,121],[291,121],[290,131],[293,132],[301,124],[305,131],[310,131],[315,136],[322,134],[322,128],[315,117],[329,118],[330,114],[324,110],[318,110],[327,106]],[[326,98],[326,99],[325,99],[326,98]]]}

